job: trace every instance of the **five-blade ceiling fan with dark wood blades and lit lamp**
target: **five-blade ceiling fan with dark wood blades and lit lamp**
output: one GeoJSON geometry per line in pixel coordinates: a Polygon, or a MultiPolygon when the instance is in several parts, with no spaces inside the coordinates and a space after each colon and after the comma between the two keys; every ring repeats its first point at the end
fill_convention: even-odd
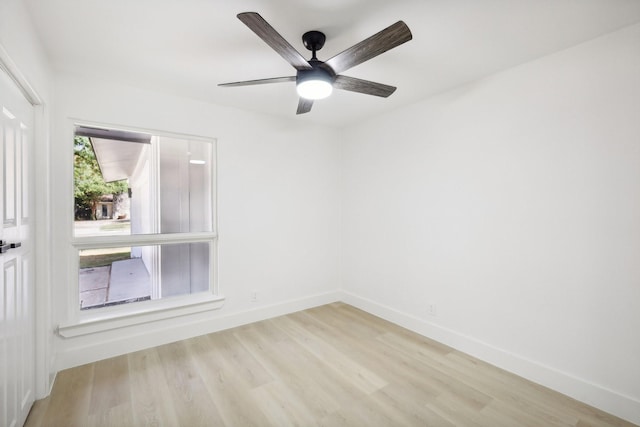
{"type": "Polygon", "coordinates": [[[297,73],[295,76],[221,83],[218,86],[232,87],[296,82],[296,90],[300,96],[296,114],[304,114],[311,111],[313,101],[326,98],[331,94],[333,88],[381,96],[383,98],[388,97],[396,90],[394,86],[347,77],[340,73],[408,42],[412,38],[409,27],[404,22],[398,21],[331,59],[320,61],[316,57],[316,52],[322,49],[326,37],[320,31],[308,31],[302,35],[304,46],[312,53],[311,59],[307,61],[258,13],[243,12],[238,14],[238,19],[291,64],[297,70],[297,73]]]}

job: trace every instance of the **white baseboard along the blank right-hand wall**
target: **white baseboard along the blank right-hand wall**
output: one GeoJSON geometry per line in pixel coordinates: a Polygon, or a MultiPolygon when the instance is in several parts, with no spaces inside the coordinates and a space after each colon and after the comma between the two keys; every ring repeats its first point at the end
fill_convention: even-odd
{"type": "Polygon", "coordinates": [[[341,300],[501,369],[640,425],[640,401],[629,396],[352,293],[342,292],[341,300]]]}

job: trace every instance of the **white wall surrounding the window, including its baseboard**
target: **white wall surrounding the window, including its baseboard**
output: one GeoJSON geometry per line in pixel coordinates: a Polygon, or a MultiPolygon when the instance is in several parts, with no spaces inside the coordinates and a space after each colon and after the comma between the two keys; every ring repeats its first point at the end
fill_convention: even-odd
{"type": "MultiPolygon", "coordinates": [[[[70,247],[75,119],[217,139],[216,311],[56,338],[58,369],[334,301],[339,288],[339,145],[334,130],[102,81],[56,79],[54,241],[70,247]],[[252,292],[258,301],[251,302],[252,292]]],[[[53,254],[55,322],[68,318],[69,251],[53,254]]]]}

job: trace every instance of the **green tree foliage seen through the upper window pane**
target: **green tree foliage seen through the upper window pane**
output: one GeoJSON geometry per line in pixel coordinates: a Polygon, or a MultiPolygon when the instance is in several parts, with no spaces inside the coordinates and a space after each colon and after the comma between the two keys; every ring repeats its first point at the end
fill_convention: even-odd
{"type": "Polygon", "coordinates": [[[105,182],[89,138],[76,136],[73,146],[73,183],[76,218],[90,215],[96,219],[96,209],[102,196],[114,196],[127,191],[127,181],[105,182]]]}

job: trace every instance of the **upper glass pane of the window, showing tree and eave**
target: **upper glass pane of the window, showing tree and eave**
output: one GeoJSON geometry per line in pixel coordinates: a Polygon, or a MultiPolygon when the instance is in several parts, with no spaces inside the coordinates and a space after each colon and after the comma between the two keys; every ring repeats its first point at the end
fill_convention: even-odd
{"type": "Polygon", "coordinates": [[[74,138],[75,235],[213,230],[207,141],[80,128],[74,138]],[[82,136],[81,136],[82,135],[82,136]]]}

